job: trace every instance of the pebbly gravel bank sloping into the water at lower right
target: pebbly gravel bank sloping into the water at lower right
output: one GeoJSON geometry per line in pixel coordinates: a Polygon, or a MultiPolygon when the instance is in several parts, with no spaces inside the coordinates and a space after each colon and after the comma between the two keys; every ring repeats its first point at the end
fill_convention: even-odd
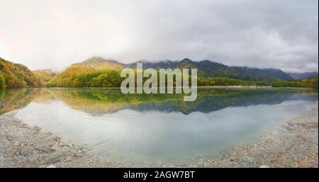
{"type": "Polygon", "coordinates": [[[318,106],[251,144],[234,147],[220,157],[200,159],[198,167],[318,168],[318,106]]]}

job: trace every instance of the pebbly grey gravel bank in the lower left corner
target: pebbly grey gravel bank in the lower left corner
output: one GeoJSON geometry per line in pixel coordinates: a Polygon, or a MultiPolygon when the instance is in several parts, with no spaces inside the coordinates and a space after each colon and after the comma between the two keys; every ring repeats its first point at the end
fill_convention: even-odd
{"type": "Polygon", "coordinates": [[[30,127],[10,112],[0,115],[0,167],[117,167],[86,154],[38,126],[30,127]]]}

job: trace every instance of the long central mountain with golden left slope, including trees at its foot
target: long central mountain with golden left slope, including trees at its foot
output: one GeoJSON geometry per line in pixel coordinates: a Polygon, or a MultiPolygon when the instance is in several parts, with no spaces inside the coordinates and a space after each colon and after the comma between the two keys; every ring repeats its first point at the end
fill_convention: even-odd
{"type": "MultiPolygon", "coordinates": [[[[64,72],[55,75],[47,86],[63,87],[112,87],[120,86],[121,69],[136,68],[136,63],[122,64],[114,60],[92,57],[84,62],[72,64],[64,72]]],[[[228,67],[225,64],[191,59],[181,61],[164,60],[142,62],[143,69],[198,69],[198,85],[266,85],[266,82],[292,80],[280,69],[257,69],[250,67],[228,67]]],[[[268,84],[269,85],[269,84],[268,84]]]]}

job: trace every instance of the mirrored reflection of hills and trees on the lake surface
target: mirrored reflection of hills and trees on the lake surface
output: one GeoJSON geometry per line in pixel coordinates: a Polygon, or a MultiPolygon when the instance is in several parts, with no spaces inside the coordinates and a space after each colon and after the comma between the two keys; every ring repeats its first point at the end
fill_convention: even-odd
{"type": "Polygon", "coordinates": [[[318,91],[310,89],[199,89],[194,102],[184,102],[182,94],[123,94],[119,89],[14,89],[0,94],[0,114],[23,108],[31,101],[50,103],[60,100],[67,106],[91,115],[118,110],[159,110],[188,115],[211,113],[228,107],[274,105],[288,99],[318,100],[318,91]]]}

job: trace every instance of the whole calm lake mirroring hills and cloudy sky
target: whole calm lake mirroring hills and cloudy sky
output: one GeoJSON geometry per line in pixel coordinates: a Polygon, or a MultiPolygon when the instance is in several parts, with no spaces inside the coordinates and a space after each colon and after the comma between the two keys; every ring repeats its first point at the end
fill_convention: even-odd
{"type": "Polygon", "coordinates": [[[120,89],[0,92],[0,114],[16,112],[89,154],[131,166],[189,165],[220,155],[314,105],[318,91],[311,89],[201,88],[194,102],[120,89]]]}

